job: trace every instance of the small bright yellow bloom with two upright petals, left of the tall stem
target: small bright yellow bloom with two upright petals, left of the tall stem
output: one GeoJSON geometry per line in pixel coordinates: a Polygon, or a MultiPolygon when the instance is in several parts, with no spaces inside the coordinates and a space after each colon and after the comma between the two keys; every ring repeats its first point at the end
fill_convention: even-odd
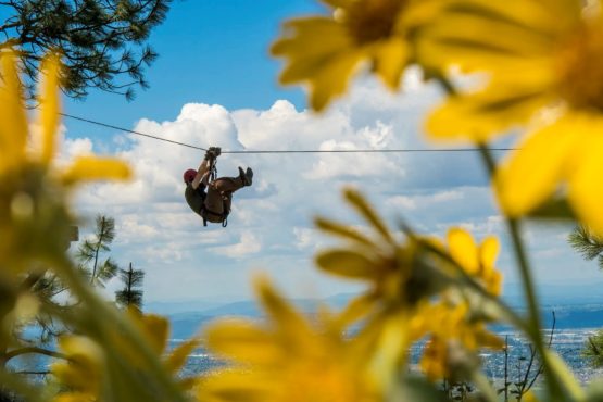
{"type": "Polygon", "coordinates": [[[478,279],[488,292],[501,294],[502,275],[494,267],[499,253],[495,237],[489,236],[478,246],[468,231],[452,228],[448,231],[448,244],[451,257],[469,276],[478,279]]]}

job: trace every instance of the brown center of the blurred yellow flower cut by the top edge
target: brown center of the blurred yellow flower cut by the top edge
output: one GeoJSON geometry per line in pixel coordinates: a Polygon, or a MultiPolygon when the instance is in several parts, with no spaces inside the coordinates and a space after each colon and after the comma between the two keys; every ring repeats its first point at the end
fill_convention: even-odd
{"type": "Polygon", "coordinates": [[[344,11],[344,23],[359,45],[389,38],[406,0],[361,0],[344,11]]]}

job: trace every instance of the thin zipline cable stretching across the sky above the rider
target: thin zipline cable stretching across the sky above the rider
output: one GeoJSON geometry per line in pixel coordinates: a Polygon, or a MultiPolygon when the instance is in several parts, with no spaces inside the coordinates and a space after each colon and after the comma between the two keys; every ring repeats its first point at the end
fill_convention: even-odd
{"type": "MultiPolygon", "coordinates": [[[[106,124],[102,122],[97,122],[93,120],[78,117],[66,113],[59,113],[60,115],[73,120],[77,120],[80,122],[95,124],[97,126],[102,126],[106,128],[113,128],[120,131],[135,134],[137,136],[148,137],[152,139],[156,139],[160,141],[171,142],[177,146],[188,147],[198,149],[201,151],[206,151],[206,148],[192,146],[190,143],[174,141],[167,138],[152,136],[150,134],[135,131],[131,129],[114,126],[112,124],[106,124]]],[[[513,151],[516,148],[490,148],[490,151],[513,151]]],[[[334,150],[263,150],[263,151],[222,151],[222,153],[403,153],[403,152],[477,152],[479,148],[435,148],[435,149],[425,149],[425,148],[407,148],[407,149],[334,149],[334,150]]]]}

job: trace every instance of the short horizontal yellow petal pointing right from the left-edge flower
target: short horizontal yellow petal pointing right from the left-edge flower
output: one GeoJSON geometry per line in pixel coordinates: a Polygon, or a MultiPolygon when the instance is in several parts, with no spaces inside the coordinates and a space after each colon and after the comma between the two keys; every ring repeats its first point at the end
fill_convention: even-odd
{"type": "Polygon", "coordinates": [[[126,180],[131,177],[129,166],[117,159],[79,156],[63,173],[62,180],[67,186],[92,180],[126,180]]]}

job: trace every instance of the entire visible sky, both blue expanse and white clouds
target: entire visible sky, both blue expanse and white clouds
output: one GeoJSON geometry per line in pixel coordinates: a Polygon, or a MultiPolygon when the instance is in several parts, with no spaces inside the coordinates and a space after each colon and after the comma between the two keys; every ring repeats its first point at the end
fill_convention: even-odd
{"type": "MultiPolygon", "coordinates": [[[[176,0],[151,36],[160,58],[147,70],[150,89],[139,90],[133,102],[91,91],[85,101],[65,99],[64,111],[230,150],[431,147],[420,134],[422,118],[440,92],[415,71],[405,76],[401,95],[361,76],[351,95],[322,116],[305,110],[302,89],[277,85],[280,63],[268,56],[268,47],[280,23],[321,10],[310,0],[176,0]]],[[[76,204],[83,216],[102,212],[116,218],[113,256],[147,272],[147,302],[247,299],[260,269],[292,297],[356,291],[357,284],[327,278],[312,263],[313,253],[330,242],[313,229],[313,216],[362,225],[341,202],[343,186],[363,190],[390,222],[404,216],[425,234],[443,236],[449,226],[462,225],[477,238],[502,236],[499,266],[507,284],[517,281],[477,154],[224,155],[222,175],[250,165],[255,183],[235,194],[226,229],[203,228],[184,202],[181,185],[181,172],[197,167],[202,152],[68,118],[64,124],[66,158],[115,153],[137,172],[128,186],[89,187],[76,204]]],[[[570,228],[525,230],[543,293],[553,287],[578,293],[603,281],[594,264],[567,246],[570,228]]]]}

